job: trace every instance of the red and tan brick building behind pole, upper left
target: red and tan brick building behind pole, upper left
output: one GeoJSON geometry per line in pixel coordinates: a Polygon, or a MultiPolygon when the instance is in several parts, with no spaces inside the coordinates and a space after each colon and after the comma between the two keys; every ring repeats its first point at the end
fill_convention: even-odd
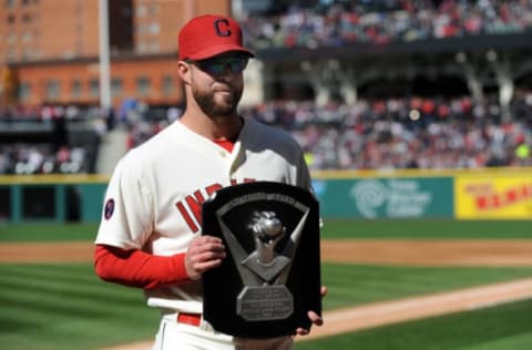
{"type": "MultiPolygon", "coordinates": [[[[4,0],[0,4],[3,105],[100,103],[98,0],[4,0]]],[[[231,13],[231,0],[106,0],[113,105],[183,99],[177,32],[192,17],[231,13]]]]}

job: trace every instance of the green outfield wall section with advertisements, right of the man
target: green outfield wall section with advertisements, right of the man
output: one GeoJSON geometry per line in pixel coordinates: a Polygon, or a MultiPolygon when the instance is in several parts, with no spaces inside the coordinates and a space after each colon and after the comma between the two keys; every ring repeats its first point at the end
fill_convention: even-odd
{"type": "Polygon", "coordinates": [[[324,217],[532,219],[532,168],[313,173],[324,217]]]}

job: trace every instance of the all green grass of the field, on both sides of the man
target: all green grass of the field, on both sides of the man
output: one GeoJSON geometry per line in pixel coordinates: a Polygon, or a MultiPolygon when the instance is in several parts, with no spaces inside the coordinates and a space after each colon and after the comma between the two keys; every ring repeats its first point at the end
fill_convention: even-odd
{"type": "MultiPolygon", "coordinates": [[[[325,238],[532,238],[532,222],[326,220],[325,238]]],[[[0,225],[1,241],[92,240],[95,225],[0,225]]],[[[324,264],[325,309],[532,277],[532,268],[434,268],[324,264]]],[[[0,265],[1,349],[99,349],[152,339],[156,311],[140,290],[105,284],[92,264],[0,265]]],[[[532,348],[532,300],[391,325],[296,349],[532,348]]]]}

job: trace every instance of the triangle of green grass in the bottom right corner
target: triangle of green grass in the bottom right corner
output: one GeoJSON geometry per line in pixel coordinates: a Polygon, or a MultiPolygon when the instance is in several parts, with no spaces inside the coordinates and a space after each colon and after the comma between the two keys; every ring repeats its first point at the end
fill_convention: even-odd
{"type": "Polygon", "coordinates": [[[297,350],[526,350],[532,300],[299,342],[297,350]]]}

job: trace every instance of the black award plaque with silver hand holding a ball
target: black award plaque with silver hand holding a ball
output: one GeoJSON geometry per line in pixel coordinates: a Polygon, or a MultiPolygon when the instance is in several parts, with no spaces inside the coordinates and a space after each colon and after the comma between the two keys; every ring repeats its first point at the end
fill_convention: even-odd
{"type": "Polygon", "coordinates": [[[310,329],[321,315],[319,205],[300,187],[255,182],[225,187],[203,204],[203,234],[227,256],[203,275],[203,316],[215,330],[273,338],[310,329]]]}

